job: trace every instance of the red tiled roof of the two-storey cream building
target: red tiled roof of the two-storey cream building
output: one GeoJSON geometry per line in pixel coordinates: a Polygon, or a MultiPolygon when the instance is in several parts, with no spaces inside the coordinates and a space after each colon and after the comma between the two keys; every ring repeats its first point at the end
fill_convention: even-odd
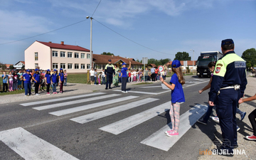
{"type": "Polygon", "coordinates": [[[49,42],[41,42],[37,41],[39,43],[42,43],[50,48],[58,48],[58,49],[65,49],[65,50],[80,50],[80,51],[85,51],[85,52],[90,52],[90,50],[86,48],[82,48],[80,46],[72,46],[72,45],[65,45],[65,44],[59,44],[59,43],[49,43],[49,42]]]}

